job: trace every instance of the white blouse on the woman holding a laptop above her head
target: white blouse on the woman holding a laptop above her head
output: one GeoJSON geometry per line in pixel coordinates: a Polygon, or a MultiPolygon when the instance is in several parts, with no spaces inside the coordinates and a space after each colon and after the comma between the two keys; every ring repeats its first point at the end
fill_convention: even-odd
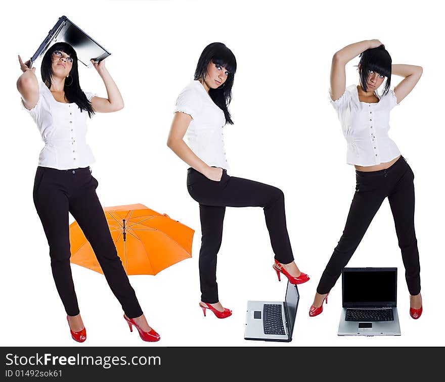
{"type": "MultiPolygon", "coordinates": [[[[90,101],[96,94],[85,92],[90,101]]],[[[23,100],[22,100],[23,105],[23,100]]],[[[86,119],[88,113],[80,111],[75,103],[65,104],[54,99],[43,82],[39,84],[37,104],[28,110],[40,131],[44,148],[38,165],[58,170],[88,167],[95,162],[90,147],[86,144],[86,119]]]]}

